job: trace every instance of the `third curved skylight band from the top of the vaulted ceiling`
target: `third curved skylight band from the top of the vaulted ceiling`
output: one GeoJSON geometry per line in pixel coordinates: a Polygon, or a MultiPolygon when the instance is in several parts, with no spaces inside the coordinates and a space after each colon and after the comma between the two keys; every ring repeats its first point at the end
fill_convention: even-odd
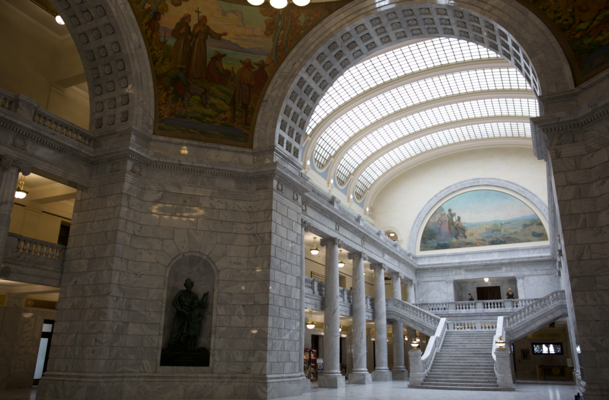
{"type": "MultiPolygon", "coordinates": [[[[537,101],[521,98],[489,98],[428,109],[391,122],[368,134],[347,151],[336,170],[336,179],[344,184],[362,161],[389,143],[430,126],[463,119],[490,116],[537,117],[537,101]],[[340,177],[343,177],[341,180],[340,177]]],[[[315,156],[317,157],[317,155],[315,156]]]]}

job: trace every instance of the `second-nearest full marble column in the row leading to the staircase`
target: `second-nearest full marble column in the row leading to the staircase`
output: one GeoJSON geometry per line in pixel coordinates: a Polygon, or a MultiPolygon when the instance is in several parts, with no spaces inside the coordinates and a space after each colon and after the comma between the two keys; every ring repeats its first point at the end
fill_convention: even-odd
{"type": "Polygon", "coordinates": [[[353,370],[349,373],[350,384],[371,384],[372,376],[366,365],[366,293],[364,280],[364,261],[368,260],[366,253],[349,253],[353,260],[353,289],[351,315],[353,316],[353,370]]]}

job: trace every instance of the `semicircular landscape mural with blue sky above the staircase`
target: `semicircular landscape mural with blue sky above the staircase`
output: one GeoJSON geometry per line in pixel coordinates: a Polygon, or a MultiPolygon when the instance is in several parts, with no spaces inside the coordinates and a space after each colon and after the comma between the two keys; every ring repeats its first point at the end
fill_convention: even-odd
{"type": "Polygon", "coordinates": [[[421,236],[421,251],[547,241],[532,209],[496,190],[472,190],[440,205],[421,236]]]}

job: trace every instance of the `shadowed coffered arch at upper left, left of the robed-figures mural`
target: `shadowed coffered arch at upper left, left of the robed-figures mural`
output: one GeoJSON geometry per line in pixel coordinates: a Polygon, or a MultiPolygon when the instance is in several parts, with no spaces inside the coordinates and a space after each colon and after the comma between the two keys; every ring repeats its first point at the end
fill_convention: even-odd
{"type": "MultiPolygon", "coordinates": [[[[152,135],[154,88],[146,43],[127,0],[51,0],[85,69],[94,134],[152,135]]],[[[139,137],[139,140],[138,140],[139,137]]]]}

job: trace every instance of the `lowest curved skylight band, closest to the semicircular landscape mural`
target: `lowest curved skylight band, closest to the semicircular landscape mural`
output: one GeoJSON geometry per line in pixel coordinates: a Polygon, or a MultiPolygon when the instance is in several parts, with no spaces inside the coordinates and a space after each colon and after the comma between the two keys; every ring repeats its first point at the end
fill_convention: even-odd
{"type": "Polygon", "coordinates": [[[531,137],[528,123],[484,123],[461,126],[432,133],[405,143],[373,162],[357,180],[354,193],[361,199],[370,186],[390,168],[417,154],[443,145],[466,142],[468,140],[489,139],[492,137],[531,137]]]}

